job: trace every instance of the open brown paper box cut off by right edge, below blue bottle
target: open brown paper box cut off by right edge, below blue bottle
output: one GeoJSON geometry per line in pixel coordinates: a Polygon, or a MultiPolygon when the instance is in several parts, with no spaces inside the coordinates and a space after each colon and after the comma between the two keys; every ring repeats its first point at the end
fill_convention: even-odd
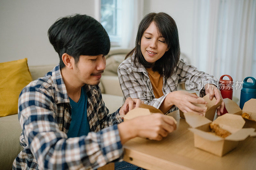
{"type": "Polygon", "coordinates": [[[243,110],[240,109],[236,102],[230,100],[229,98],[225,98],[223,99],[223,101],[225,103],[225,107],[228,113],[230,114],[242,115],[243,113],[248,113],[250,119],[252,120],[244,118],[244,128],[256,128],[256,99],[250,99],[247,102],[245,102],[243,110]]]}

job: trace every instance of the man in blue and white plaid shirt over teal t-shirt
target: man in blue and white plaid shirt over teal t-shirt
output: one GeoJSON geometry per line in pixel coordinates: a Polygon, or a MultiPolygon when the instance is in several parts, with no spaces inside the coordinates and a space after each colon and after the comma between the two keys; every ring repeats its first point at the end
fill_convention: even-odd
{"type": "Polygon", "coordinates": [[[122,123],[117,116],[139,107],[139,99],[127,99],[108,115],[98,84],[110,41],[98,21],[64,17],[49,28],[48,37],[60,64],[20,93],[24,149],[13,169],[96,169],[122,160],[122,144],[131,138],[161,140],[175,130],[172,119],[161,114],[122,123]]]}

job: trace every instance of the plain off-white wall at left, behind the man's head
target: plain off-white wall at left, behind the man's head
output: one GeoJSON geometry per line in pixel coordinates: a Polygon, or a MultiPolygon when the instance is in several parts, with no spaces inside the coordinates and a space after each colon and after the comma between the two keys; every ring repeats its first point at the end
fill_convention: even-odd
{"type": "Polygon", "coordinates": [[[0,62],[28,58],[28,65],[57,64],[47,31],[56,19],[75,13],[94,17],[94,0],[1,0],[0,62]]]}

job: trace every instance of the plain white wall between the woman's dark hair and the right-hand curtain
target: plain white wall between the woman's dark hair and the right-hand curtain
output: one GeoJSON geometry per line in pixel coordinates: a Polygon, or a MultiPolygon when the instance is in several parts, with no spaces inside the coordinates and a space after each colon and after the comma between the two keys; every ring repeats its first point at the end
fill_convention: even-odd
{"type": "MultiPolygon", "coordinates": [[[[193,27],[195,0],[145,0],[144,15],[150,12],[165,12],[176,22],[179,31],[180,49],[192,64],[193,27]]],[[[195,65],[196,66],[196,65],[195,65]]],[[[196,66],[197,67],[197,66],[196,66]]]]}

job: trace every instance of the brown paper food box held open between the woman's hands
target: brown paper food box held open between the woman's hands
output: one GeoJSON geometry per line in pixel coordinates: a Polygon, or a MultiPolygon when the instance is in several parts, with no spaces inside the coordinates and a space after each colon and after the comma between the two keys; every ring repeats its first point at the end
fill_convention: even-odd
{"type": "MultiPolygon", "coordinates": [[[[195,93],[192,93],[192,94],[195,94],[195,93]]],[[[210,96],[210,94],[207,94],[203,97],[203,99],[207,102],[207,104],[197,104],[197,103],[193,103],[193,104],[198,107],[206,108],[206,112],[203,113],[204,117],[213,121],[215,113],[216,113],[216,109],[217,109],[217,107],[219,107],[221,105],[221,101],[215,105],[216,98],[213,97],[213,99],[210,100],[209,96],[210,96]]],[[[184,113],[181,110],[180,110],[180,117],[185,118],[184,113]]]]}

